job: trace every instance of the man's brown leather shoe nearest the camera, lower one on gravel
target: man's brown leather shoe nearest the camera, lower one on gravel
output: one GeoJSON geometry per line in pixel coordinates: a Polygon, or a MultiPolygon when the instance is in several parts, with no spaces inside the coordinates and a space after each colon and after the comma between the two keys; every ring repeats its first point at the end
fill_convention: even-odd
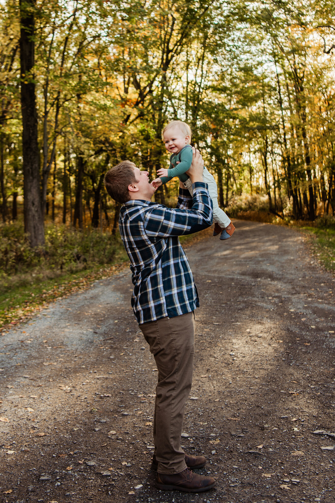
{"type": "Polygon", "coordinates": [[[215,486],[215,480],[212,477],[204,477],[193,473],[189,468],[185,468],[182,472],[172,475],[157,473],[155,485],[163,491],[204,492],[215,486]]]}

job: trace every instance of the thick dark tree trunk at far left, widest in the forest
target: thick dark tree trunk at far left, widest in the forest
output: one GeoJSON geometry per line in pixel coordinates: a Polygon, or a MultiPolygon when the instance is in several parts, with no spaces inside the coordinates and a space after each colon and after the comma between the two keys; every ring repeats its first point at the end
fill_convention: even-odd
{"type": "Polygon", "coordinates": [[[34,68],[34,0],[20,0],[20,63],[25,232],[31,246],[44,244],[34,68]]]}

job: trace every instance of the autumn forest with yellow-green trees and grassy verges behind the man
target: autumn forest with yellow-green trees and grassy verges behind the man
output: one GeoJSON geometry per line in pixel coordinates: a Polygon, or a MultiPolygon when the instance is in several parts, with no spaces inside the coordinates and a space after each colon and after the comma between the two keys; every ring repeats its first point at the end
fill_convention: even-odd
{"type": "Polygon", "coordinates": [[[155,178],[174,119],[231,217],[312,228],[334,269],[333,2],[1,0],[0,43],[2,330],[125,260],[104,174],[155,178]]]}

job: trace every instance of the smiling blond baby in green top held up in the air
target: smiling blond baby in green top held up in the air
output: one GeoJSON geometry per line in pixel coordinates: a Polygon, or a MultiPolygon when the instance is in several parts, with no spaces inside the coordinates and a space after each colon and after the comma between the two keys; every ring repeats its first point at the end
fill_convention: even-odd
{"type": "MultiPolygon", "coordinates": [[[[159,178],[153,180],[154,187],[160,187],[166,184],[174,177],[178,177],[184,184],[185,189],[188,189],[193,196],[191,179],[185,174],[189,169],[193,152],[190,145],[192,132],[188,124],[182,121],[172,121],[162,131],[162,140],[165,143],[165,148],[171,152],[170,166],[166,170],[161,168],[157,171],[159,178]]],[[[208,169],[204,167],[204,182],[208,185],[208,190],[213,202],[213,222],[215,223],[213,236],[220,235],[220,239],[229,239],[235,227],[226,213],[219,208],[218,204],[218,188],[214,177],[208,169]]]]}

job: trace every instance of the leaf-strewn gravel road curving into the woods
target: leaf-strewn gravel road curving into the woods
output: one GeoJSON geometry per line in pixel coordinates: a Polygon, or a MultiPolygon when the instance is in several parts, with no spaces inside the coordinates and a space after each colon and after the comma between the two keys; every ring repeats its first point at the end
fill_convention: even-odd
{"type": "Polygon", "coordinates": [[[182,440],[216,488],[154,487],[157,369],[125,269],[1,337],[0,501],[335,501],[335,436],[313,434],[335,433],[335,279],[299,232],[234,223],[186,249],[201,307],[182,440]]]}

